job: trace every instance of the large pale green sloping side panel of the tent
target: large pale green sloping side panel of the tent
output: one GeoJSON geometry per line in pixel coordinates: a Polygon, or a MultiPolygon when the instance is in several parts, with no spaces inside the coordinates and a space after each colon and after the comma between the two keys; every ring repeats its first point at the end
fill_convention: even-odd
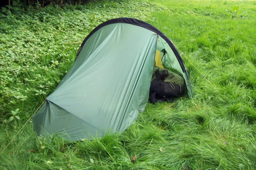
{"type": "MultiPolygon", "coordinates": [[[[78,128],[90,124],[94,129],[124,131],[136,120],[139,109],[145,109],[156,42],[157,35],[142,27],[124,23],[106,25],[86,41],[76,62],[47,100],[82,120],[81,125],[76,123],[78,128]]],[[[47,113],[56,119],[45,121],[58,121],[61,117],[53,111],[47,113]]],[[[64,125],[49,127],[47,132],[59,133],[64,125]]]]}

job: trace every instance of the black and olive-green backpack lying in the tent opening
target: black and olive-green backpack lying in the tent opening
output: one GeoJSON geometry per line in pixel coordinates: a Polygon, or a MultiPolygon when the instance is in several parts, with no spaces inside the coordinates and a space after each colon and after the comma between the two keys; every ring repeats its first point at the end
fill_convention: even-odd
{"type": "Polygon", "coordinates": [[[184,95],[184,79],[178,74],[164,69],[155,68],[149,89],[151,103],[169,101],[184,95]]]}

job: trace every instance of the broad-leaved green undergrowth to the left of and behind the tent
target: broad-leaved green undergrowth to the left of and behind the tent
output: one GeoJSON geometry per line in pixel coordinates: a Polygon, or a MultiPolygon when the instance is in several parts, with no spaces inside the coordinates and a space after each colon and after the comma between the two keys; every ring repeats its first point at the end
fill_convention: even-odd
{"type": "MultiPolygon", "coordinates": [[[[100,23],[118,17],[145,19],[154,5],[102,1],[86,6],[31,8],[23,14],[2,10],[0,23],[0,105],[3,114],[52,92],[74,62],[79,44],[100,23]],[[35,97],[35,95],[37,95],[35,97]]],[[[14,10],[14,9],[13,9],[14,10]]],[[[1,115],[0,115],[1,116],[1,115]]],[[[4,120],[2,120],[4,121],[4,120]]]]}

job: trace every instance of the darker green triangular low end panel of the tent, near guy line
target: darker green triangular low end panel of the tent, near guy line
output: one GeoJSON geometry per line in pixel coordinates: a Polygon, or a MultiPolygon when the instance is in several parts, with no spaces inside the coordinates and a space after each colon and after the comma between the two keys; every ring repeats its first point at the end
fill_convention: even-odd
{"type": "Polygon", "coordinates": [[[90,139],[91,136],[102,135],[103,133],[52,102],[47,101],[42,108],[32,118],[34,123],[38,120],[43,121],[41,126],[34,126],[37,135],[54,133],[69,140],[77,140],[83,138],[90,139]]]}

